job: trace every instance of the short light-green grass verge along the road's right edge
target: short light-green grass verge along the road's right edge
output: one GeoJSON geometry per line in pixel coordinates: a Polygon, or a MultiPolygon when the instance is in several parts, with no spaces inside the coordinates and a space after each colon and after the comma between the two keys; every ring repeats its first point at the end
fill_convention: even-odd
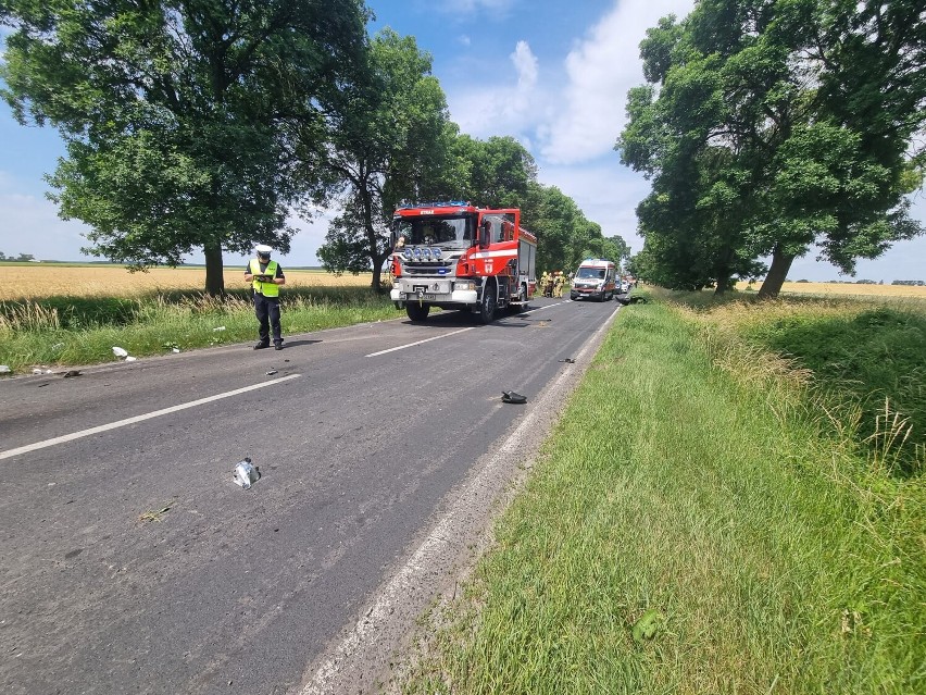
{"type": "Polygon", "coordinates": [[[621,312],[393,690],[926,690],[922,449],[897,474],[761,346],[766,309],[724,311],[621,312]]]}

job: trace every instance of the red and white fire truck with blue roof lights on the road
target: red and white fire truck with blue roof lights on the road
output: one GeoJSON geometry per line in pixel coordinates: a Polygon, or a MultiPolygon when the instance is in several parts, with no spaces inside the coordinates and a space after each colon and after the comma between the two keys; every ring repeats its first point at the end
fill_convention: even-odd
{"type": "Polygon", "coordinates": [[[521,210],[449,201],[399,208],[392,218],[392,291],[397,309],[424,321],[431,307],[478,313],[524,311],[534,294],[537,237],[521,210]]]}

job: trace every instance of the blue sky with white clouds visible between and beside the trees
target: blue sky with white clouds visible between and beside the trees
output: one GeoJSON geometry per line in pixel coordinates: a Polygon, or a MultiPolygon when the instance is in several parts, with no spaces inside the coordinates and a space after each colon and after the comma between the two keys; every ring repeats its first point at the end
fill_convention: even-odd
{"type": "MultiPolygon", "coordinates": [[[[620,234],[639,251],[634,210],[649,183],[620,163],[614,140],[625,123],[627,90],[642,84],[638,45],[659,17],[687,14],[693,0],[368,0],[374,32],[390,26],[414,35],[434,58],[451,119],[481,139],[517,138],[535,157],[539,179],[571,196],[605,236],[620,234]]],[[[88,260],[77,221],[64,222],[45,198],[42,176],[63,147],[50,128],[23,127],[0,103],[0,251],[40,259],[88,260]]],[[[915,216],[926,221],[926,194],[915,216]]],[[[295,221],[302,231],[286,265],[314,265],[326,221],[295,221]]],[[[789,277],[839,280],[811,252],[789,277]]],[[[856,277],[926,280],[926,238],[860,261],[856,277]]],[[[188,260],[201,262],[193,255],[188,260]]],[[[234,255],[226,263],[243,262],[234,255]]],[[[844,278],[848,280],[848,278],[844,278]]]]}

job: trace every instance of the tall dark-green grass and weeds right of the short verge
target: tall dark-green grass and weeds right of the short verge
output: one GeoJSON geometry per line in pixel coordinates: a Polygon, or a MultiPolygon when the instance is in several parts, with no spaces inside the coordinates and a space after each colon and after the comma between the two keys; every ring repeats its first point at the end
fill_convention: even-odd
{"type": "MultiPolygon", "coordinates": [[[[684,298],[685,306],[688,298],[684,298]]],[[[788,298],[699,302],[714,331],[731,334],[721,353],[746,344],[810,375],[812,406],[836,412],[877,466],[910,475],[926,446],[926,303],[912,300],[788,298]]],[[[743,360],[742,372],[749,361],[743,360]]],[[[754,363],[754,362],[753,362],[754,363]]],[[[797,373],[797,372],[796,372],[797,373]]]]}

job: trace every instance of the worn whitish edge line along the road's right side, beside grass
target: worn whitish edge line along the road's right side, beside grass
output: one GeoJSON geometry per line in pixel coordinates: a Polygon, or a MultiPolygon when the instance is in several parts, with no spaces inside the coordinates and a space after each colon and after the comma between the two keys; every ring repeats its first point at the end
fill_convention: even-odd
{"type": "MultiPolygon", "coordinates": [[[[614,317],[621,307],[616,307],[608,319],[598,327],[591,338],[586,342],[583,349],[576,356],[576,361],[583,362],[589,350],[598,348],[600,340],[598,339],[610,326],[614,317]]],[[[562,389],[562,383],[570,378],[572,370],[564,370],[555,382],[546,389],[547,398],[558,397],[562,389]]],[[[483,481],[491,480],[496,469],[505,466],[508,459],[514,456],[522,447],[522,442],[527,437],[528,433],[537,426],[537,421],[541,418],[542,408],[533,408],[531,411],[524,418],[521,424],[515,429],[511,436],[499,447],[498,451],[491,457],[490,461],[476,474],[465,489],[456,497],[447,514],[431,530],[430,534],[424,539],[418,548],[412,554],[408,562],[402,566],[399,571],[392,575],[385,587],[375,596],[373,605],[365,611],[353,626],[353,629],[345,636],[345,638],[336,647],[328,651],[327,657],[321,662],[316,669],[312,680],[301,690],[299,695],[323,695],[326,693],[338,692],[337,687],[331,690],[331,682],[337,679],[341,671],[346,671],[343,666],[346,661],[354,657],[356,654],[362,654],[364,643],[375,642],[377,632],[381,632],[384,625],[389,621],[390,617],[397,613],[397,606],[402,600],[408,600],[410,595],[420,592],[418,583],[415,578],[425,572],[430,571],[436,567],[436,558],[450,549],[453,533],[451,529],[460,518],[467,517],[468,500],[474,495],[478,494],[480,488],[485,488],[486,483],[483,481]]],[[[370,674],[367,674],[370,675],[370,674]]]]}

